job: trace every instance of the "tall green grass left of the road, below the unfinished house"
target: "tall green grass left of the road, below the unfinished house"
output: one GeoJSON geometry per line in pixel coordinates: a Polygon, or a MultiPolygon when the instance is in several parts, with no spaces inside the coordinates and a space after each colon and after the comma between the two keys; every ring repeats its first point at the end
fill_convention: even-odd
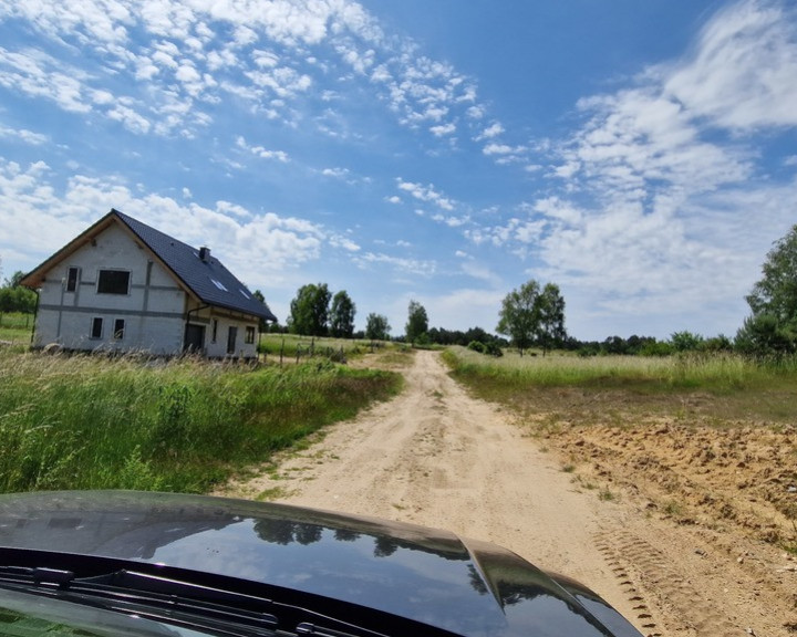
{"type": "Polygon", "coordinates": [[[0,352],[0,491],[205,492],[398,389],[390,373],[0,352]]]}

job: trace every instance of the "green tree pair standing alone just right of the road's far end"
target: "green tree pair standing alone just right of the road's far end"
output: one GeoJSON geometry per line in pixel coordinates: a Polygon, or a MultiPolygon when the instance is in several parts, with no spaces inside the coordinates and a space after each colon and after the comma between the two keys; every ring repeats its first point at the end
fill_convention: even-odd
{"type": "Polygon", "coordinates": [[[499,334],[509,336],[515,347],[528,349],[535,343],[542,354],[567,338],[565,331],[565,299],[559,286],[548,283],[544,289],[534,279],[504,297],[498,314],[499,334]]]}

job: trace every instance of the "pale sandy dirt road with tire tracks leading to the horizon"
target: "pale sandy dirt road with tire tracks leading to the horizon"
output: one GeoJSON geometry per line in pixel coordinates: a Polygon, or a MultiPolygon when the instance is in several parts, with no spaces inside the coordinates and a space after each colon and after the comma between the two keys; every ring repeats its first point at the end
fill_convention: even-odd
{"type": "Polygon", "coordinates": [[[762,547],[742,539],[717,543],[652,515],[633,492],[584,488],[563,470],[556,448],[469,397],[437,354],[417,352],[405,377],[395,399],[219,493],[496,542],[584,582],[643,635],[797,634],[797,595],[785,594],[791,583],[797,591],[790,556],[765,560],[762,547]]]}

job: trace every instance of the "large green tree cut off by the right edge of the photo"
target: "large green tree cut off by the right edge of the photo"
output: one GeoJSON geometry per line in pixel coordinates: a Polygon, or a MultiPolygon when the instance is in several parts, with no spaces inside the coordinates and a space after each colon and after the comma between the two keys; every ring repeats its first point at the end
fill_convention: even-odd
{"type": "Polygon", "coordinates": [[[745,297],[752,315],[736,333],[735,346],[754,355],[793,353],[797,349],[797,226],[775,242],[762,274],[745,297]]]}

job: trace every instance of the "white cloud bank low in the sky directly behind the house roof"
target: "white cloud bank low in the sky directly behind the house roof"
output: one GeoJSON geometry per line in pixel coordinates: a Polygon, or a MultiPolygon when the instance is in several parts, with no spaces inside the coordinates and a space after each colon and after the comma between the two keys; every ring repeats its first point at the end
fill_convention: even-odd
{"type": "MultiPolygon", "coordinates": [[[[218,201],[214,207],[183,205],[169,197],[134,194],[118,179],[74,176],[61,189],[49,184],[50,168],[29,167],[0,158],[0,254],[32,269],[116,208],[182,241],[214,248],[239,278],[261,281],[262,264],[272,274],[318,260],[324,246],[356,250],[345,238],[296,217],[255,213],[240,205],[218,201]],[[24,246],[23,253],[17,249],[24,246]]],[[[184,191],[184,197],[186,192],[184,191]]],[[[276,274],[275,274],[276,275],[276,274]]]]}

